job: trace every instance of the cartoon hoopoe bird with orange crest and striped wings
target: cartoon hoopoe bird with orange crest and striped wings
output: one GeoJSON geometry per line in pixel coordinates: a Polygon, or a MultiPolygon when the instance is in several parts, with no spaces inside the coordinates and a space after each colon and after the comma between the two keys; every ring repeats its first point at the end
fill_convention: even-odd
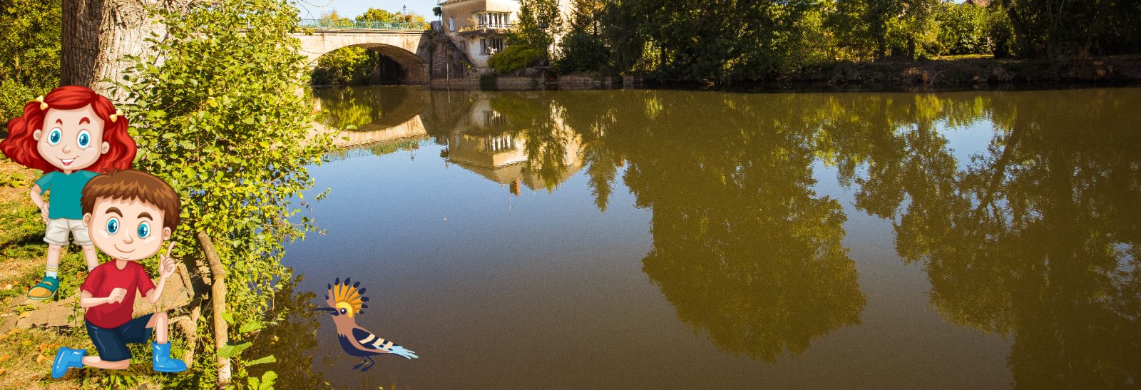
{"type": "Polygon", "coordinates": [[[342,284],[341,278],[337,278],[337,282],[329,285],[329,293],[325,295],[325,303],[329,307],[313,309],[314,311],[329,311],[333,316],[333,324],[337,325],[337,338],[341,342],[341,348],[345,349],[346,354],[362,358],[359,364],[353,366],[353,369],[369,371],[377,364],[372,360],[372,357],[377,355],[393,354],[405,359],[419,358],[416,354],[404,349],[404,347],[378,338],[372,332],[357,326],[356,316],[364,314],[362,309],[369,308],[364,303],[369,301],[369,296],[363,295],[364,289],[357,289],[359,285],[361,282],[349,285],[349,278],[345,278],[342,284]]]}

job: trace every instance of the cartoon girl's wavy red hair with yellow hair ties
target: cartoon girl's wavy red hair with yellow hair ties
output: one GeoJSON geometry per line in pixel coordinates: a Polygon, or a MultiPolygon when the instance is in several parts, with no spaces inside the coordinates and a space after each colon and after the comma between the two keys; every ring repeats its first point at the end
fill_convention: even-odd
{"type": "Polygon", "coordinates": [[[29,101],[24,105],[23,116],[8,121],[8,138],[0,140],[0,152],[8,159],[44,173],[59,171],[40,156],[32,133],[35,130],[43,130],[43,116],[48,109],[75,109],[90,105],[95,114],[103,120],[103,140],[111,147],[107,154],[99,155],[99,160],[84,170],[102,173],[112,169],[131,168],[131,162],[135,161],[135,140],[127,135],[127,117],[120,115],[115,121],[111,121],[111,115],[115,114],[115,106],[111,100],[87,87],[64,86],[48,92],[43,97],[43,103],[48,105],[47,109],[40,109],[40,101],[29,101]]]}

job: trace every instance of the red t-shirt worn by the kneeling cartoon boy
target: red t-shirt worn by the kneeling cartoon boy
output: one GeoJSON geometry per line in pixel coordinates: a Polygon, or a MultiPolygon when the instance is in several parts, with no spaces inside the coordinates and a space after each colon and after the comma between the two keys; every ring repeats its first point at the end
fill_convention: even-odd
{"type": "Polygon", "coordinates": [[[135,291],[138,290],[143,296],[154,289],[154,282],[146,274],[146,269],[135,261],[127,261],[123,269],[115,267],[119,260],[112,260],[95,267],[87,279],[83,281],[83,290],[94,298],[105,298],[111,295],[115,289],[127,289],[127,295],[119,303],[103,303],[87,309],[83,316],[95,326],[111,328],[127,324],[135,314],[135,291]]]}

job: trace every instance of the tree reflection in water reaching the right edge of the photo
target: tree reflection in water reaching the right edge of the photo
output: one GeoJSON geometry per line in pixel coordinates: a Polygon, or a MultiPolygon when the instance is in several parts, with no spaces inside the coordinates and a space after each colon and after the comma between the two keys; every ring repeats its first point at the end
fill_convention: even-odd
{"type": "Polygon", "coordinates": [[[899,254],[925,263],[931,302],[952,322],[1013,336],[1017,387],[1134,385],[1141,135],[1130,127],[1141,115],[1123,107],[1141,99],[1044,95],[985,101],[998,132],[965,169],[923,119],[884,136],[905,152],[859,157],[869,170],[857,206],[893,217],[909,200],[896,222],[899,254]]]}

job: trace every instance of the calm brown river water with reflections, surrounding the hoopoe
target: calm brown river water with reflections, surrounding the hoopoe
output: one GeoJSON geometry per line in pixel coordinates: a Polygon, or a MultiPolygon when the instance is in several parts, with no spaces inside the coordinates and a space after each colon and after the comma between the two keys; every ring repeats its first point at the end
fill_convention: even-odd
{"type": "Polygon", "coordinates": [[[351,277],[420,359],[296,316],[285,384],[1141,384],[1141,89],[313,95],[281,301],[351,277]]]}

